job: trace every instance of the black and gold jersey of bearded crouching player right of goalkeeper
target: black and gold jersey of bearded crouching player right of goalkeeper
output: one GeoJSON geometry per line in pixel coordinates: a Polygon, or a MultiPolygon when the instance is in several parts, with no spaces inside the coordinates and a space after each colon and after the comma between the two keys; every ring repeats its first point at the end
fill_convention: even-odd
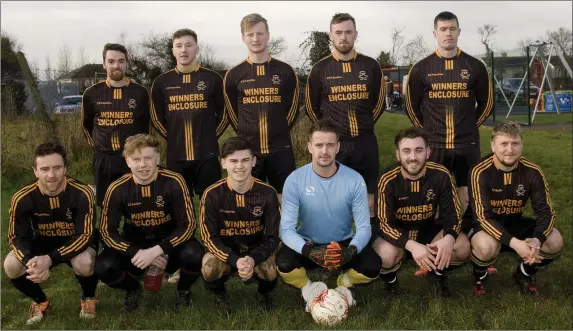
{"type": "Polygon", "coordinates": [[[460,201],[454,180],[442,165],[428,161],[424,175],[410,180],[401,172],[399,163],[388,167],[378,181],[376,215],[383,237],[404,248],[408,240],[416,240],[418,232],[436,222],[444,234],[457,238],[462,222],[460,201]]]}

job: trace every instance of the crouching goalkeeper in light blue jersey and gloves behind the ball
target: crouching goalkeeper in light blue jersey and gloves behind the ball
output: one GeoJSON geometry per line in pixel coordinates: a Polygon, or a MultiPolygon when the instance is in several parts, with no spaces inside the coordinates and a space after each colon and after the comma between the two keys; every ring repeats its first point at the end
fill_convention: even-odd
{"type": "Polygon", "coordinates": [[[336,126],[329,119],[313,123],[308,142],[312,162],[291,173],[283,188],[282,245],[276,263],[282,279],[301,289],[307,304],[312,301],[313,288],[324,286],[311,282],[307,269],[344,270],[337,284],[350,288],[370,283],[382,267],[368,245],[371,227],[366,183],[358,172],[335,161],[338,139],[336,126]]]}

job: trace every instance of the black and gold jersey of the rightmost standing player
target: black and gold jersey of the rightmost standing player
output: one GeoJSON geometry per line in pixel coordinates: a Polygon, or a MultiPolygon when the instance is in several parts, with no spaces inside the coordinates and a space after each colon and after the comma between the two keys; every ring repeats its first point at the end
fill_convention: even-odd
{"type": "Polygon", "coordinates": [[[478,127],[493,107],[493,89],[485,64],[462,52],[445,58],[436,50],[408,73],[406,113],[429,135],[432,147],[479,146],[478,127]]]}

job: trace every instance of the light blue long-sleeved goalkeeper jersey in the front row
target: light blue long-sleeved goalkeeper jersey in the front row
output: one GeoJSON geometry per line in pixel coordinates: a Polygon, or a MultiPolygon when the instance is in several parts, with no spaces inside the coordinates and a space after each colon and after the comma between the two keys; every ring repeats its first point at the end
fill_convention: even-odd
{"type": "Polygon", "coordinates": [[[285,181],[280,237],[285,245],[301,254],[307,240],[328,244],[351,237],[350,245],[361,252],[372,236],[364,178],[338,162],[337,166],[333,176],[324,178],[309,163],[285,181]],[[356,234],[352,230],[353,219],[356,234]]]}

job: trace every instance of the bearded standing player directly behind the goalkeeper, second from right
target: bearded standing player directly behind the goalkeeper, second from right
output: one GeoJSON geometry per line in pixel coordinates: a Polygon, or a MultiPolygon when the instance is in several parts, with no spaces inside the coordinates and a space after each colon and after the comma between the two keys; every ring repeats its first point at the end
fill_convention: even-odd
{"type": "Polygon", "coordinates": [[[375,223],[379,156],[374,124],[382,115],[386,93],[378,62],[354,50],[357,37],[352,16],[338,13],[332,17],[330,40],[334,50],[310,71],[306,111],[313,122],[329,118],[335,123],[340,133],[336,159],[364,177],[370,221],[375,223]]]}

